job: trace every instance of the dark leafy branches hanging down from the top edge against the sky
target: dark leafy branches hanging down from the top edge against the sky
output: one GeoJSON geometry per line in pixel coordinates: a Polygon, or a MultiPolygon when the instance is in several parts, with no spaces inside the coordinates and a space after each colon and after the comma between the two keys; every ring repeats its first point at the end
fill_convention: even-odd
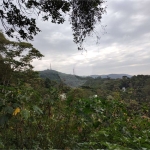
{"type": "Polygon", "coordinates": [[[100,22],[106,8],[104,0],[2,0],[0,2],[0,20],[10,37],[32,40],[40,32],[33,16],[42,15],[43,21],[62,24],[64,14],[69,14],[74,42],[82,49],[87,35],[100,22]]]}

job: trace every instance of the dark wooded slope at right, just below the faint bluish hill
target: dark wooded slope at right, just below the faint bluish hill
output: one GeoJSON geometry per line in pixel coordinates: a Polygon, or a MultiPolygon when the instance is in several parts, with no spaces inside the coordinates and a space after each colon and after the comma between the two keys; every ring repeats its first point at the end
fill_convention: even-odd
{"type": "Polygon", "coordinates": [[[92,89],[99,96],[118,92],[127,101],[150,101],[150,75],[124,76],[122,79],[88,78],[82,88],[92,89]]]}

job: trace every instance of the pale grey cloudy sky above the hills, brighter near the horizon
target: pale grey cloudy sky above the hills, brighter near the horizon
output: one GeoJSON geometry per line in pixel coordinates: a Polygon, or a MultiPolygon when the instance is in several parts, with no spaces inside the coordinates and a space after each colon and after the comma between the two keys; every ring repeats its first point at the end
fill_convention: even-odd
{"type": "Polygon", "coordinates": [[[69,20],[63,25],[42,22],[34,47],[45,56],[35,60],[35,70],[50,68],[76,75],[127,73],[150,74],[150,0],[108,0],[107,13],[95,34],[78,51],[69,20]],[[106,26],[107,25],[107,26],[106,26]],[[103,26],[106,26],[103,28],[103,26]],[[105,33],[107,32],[107,33],[105,33]]]}

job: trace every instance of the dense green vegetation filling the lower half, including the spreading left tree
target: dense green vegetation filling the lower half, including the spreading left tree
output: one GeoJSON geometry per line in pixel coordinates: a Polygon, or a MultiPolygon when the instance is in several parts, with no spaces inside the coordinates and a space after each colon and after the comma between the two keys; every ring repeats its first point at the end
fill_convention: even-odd
{"type": "Polygon", "coordinates": [[[150,149],[150,76],[71,88],[32,70],[31,44],[0,39],[1,149],[150,149]]]}

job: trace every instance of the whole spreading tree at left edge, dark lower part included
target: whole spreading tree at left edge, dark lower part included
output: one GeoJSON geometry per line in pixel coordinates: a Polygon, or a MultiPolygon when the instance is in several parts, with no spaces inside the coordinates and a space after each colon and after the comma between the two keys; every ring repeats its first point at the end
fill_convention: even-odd
{"type": "Polygon", "coordinates": [[[42,57],[32,44],[7,40],[0,32],[0,85],[16,84],[16,81],[30,82],[38,78],[31,62],[42,57]]]}

